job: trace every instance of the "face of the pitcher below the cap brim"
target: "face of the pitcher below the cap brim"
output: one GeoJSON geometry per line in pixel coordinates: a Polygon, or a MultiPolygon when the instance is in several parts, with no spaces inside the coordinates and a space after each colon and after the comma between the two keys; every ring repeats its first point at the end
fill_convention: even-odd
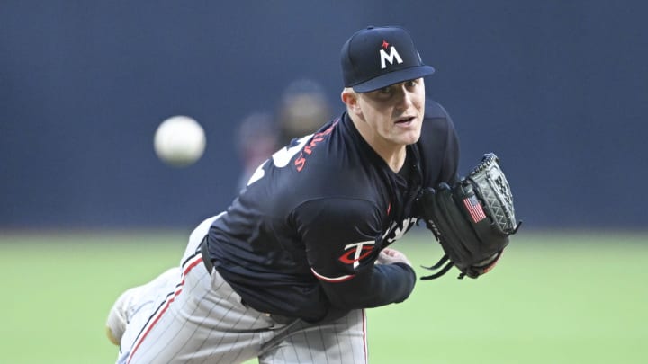
{"type": "Polygon", "coordinates": [[[407,146],[420,137],[425,113],[425,84],[418,78],[361,93],[358,106],[362,118],[374,130],[374,142],[407,146]]]}

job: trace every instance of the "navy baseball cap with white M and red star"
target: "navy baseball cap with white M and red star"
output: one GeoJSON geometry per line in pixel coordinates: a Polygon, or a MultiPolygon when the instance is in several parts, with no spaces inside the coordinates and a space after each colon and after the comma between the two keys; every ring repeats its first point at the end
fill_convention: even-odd
{"type": "Polygon", "coordinates": [[[398,26],[356,31],[340,54],[345,87],[369,93],[435,72],[423,64],[410,32],[398,26]]]}

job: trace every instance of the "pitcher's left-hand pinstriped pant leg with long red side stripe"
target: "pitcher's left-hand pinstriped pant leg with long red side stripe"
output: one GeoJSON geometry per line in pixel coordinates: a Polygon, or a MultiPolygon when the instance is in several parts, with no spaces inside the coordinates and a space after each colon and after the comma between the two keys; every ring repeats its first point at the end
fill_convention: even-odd
{"type": "Polygon", "coordinates": [[[272,320],[241,305],[216,271],[206,271],[196,250],[210,225],[192,233],[178,284],[131,317],[118,363],[237,363],[256,358],[274,334],[272,320]]]}

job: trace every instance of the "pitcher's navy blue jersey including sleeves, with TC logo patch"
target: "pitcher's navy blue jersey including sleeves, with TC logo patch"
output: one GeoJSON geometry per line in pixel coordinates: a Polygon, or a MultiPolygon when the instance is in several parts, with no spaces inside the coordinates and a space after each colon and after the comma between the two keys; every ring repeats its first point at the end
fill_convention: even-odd
{"type": "Polygon", "coordinates": [[[455,181],[458,157],[437,102],[426,102],[421,138],[407,146],[400,173],[343,113],[259,166],[211,226],[214,267],[247,305],[307,321],[401,302],[414,271],[375,259],[416,223],[423,186],[455,181]]]}

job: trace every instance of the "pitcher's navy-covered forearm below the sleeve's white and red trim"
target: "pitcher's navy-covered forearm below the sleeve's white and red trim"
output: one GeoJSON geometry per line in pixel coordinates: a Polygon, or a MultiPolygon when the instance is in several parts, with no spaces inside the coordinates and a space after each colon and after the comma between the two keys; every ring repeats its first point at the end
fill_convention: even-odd
{"type": "Polygon", "coordinates": [[[408,264],[377,264],[343,283],[325,284],[331,305],[344,309],[399,303],[410,297],[416,274],[408,264]]]}

